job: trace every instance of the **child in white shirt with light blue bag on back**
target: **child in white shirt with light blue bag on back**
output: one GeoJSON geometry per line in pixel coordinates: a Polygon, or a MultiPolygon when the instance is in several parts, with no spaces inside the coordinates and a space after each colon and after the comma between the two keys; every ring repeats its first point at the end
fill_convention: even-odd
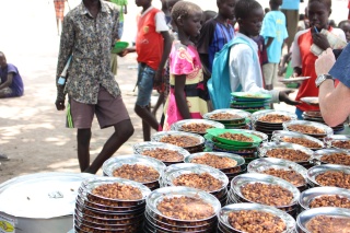
{"type": "Polygon", "coordinates": [[[259,92],[272,95],[272,102],[299,104],[289,98],[290,91],[267,91],[258,58],[258,46],[252,39],[260,33],[264,10],[255,0],[240,0],[235,7],[240,32],[217,54],[212,78],[208,82],[214,108],[229,108],[231,92],[259,92]]]}

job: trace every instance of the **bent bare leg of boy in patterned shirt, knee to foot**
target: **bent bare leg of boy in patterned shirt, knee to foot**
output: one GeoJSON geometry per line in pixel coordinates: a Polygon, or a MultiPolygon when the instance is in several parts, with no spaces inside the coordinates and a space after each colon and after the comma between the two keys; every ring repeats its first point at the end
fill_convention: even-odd
{"type": "Polygon", "coordinates": [[[95,174],[103,163],[108,160],[133,133],[133,126],[130,119],[122,120],[114,126],[115,132],[103,145],[97,158],[92,162],[85,173],[95,174]]]}

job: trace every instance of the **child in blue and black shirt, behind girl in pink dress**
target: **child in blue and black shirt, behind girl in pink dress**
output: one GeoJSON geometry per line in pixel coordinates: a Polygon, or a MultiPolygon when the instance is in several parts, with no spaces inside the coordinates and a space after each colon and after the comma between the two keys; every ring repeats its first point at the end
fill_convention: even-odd
{"type": "Polygon", "coordinates": [[[212,71],[212,61],[215,54],[234,36],[234,30],[229,20],[234,19],[236,0],[218,0],[217,4],[219,12],[217,16],[203,24],[197,45],[205,71],[210,72],[206,73],[208,78],[210,78],[212,71]]]}

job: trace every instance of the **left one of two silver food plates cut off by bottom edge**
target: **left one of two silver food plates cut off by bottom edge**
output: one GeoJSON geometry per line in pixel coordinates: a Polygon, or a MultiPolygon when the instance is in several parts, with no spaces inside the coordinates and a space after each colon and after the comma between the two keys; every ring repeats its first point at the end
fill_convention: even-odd
{"type": "MultiPolygon", "coordinates": [[[[229,206],[223,207],[219,212],[219,225],[218,225],[218,232],[219,233],[228,233],[228,232],[245,232],[242,228],[246,226],[249,229],[249,232],[257,232],[254,231],[254,226],[261,226],[261,229],[265,229],[266,225],[269,225],[269,230],[273,228],[271,223],[278,224],[278,220],[281,220],[284,223],[285,229],[283,230],[283,233],[294,233],[295,231],[295,220],[290,214],[265,205],[259,203],[232,203],[229,206]],[[245,214],[245,219],[234,219],[233,217],[230,217],[231,214],[238,214],[238,213],[268,213],[272,214],[273,220],[269,222],[265,222],[267,220],[264,219],[247,219],[252,217],[250,214],[245,214]],[[231,221],[235,221],[236,223],[242,223],[240,225],[241,228],[235,228],[231,221]]],[[[260,230],[261,230],[260,229],[260,230]]],[[[281,230],[281,225],[277,225],[277,229],[281,230]]],[[[275,231],[273,231],[275,232],[275,231]]],[[[277,232],[277,231],[276,231],[277,232]]],[[[282,232],[282,231],[279,231],[282,232]]]]}

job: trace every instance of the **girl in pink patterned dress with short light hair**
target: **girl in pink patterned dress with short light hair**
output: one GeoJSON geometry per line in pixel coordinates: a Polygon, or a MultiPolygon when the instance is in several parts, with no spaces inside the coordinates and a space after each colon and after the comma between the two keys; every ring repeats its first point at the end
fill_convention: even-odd
{"type": "Polygon", "coordinates": [[[164,113],[164,130],[172,124],[190,118],[201,118],[208,112],[203,73],[198,51],[190,38],[200,31],[201,9],[191,2],[179,1],[172,10],[178,40],[173,43],[170,55],[171,92],[164,113]]]}

